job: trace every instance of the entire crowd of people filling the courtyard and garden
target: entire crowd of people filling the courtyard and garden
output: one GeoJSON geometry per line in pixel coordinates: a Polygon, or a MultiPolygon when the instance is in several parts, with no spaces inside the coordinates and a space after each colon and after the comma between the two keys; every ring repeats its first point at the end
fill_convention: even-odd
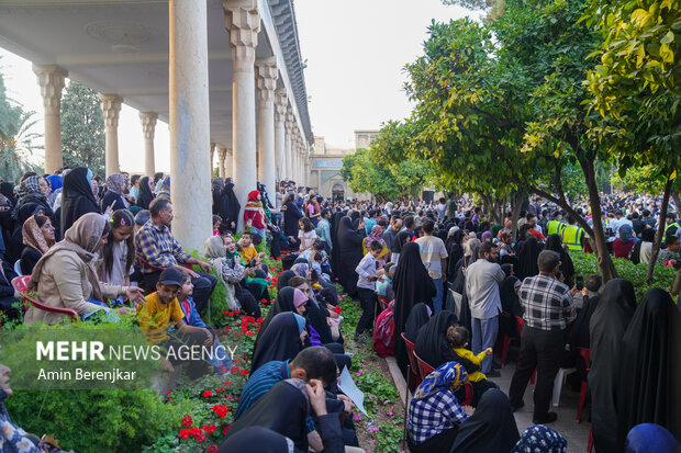
{"type": "MultiPolygon", "coordinates": [[[[148,341],[163,348],[222,348],[204,320],[217,284],[230,309],[265,318],[221,451],[255,442],[271,452],[358,449],[354,405],[337,383],[353,359],[339,328],[336,283],[361,308],[354,342],[371,342],[381,356],[394,354],[413,383],[412,452],[567,451],[566,439],[546,427],[557,419],[549,410],[554,380],[567,366],[578,369],[577,385],[589,382],[598,452],[639,452],[651,438],[671,445],[660,444],[658,453],[673,451],[666,428],[677,406],[669,395],[678,306],[665,290],[648,291],[637,304],[630,282],[578,275],[570,253],[589,251],[589,241],[576,219],[539,199],[527,200],[518,218],[509,214],[493,224],[468,196],[334,201],[292,181],[279,183],[273,200],[258,183],[241,206],[234,183],[217,178],[214,231],[198,259],[172,235],[169,177],[115,173],[101,184],[80,167],[26,173],[16,188],[0,184],[0,308],[8,321],[65,319],[33,306],[22,313],[11,284],[18,274],[30,275],[27,287],[41,303],[82,320],[116,322],[135,314],[148,341]],[[283,271],[264,315],[259,302],[270,305],[272,278],[266,257],[280,258],[283,271]],[[507,389],[493,381],[501,375],[494,349],[504,336],[521,340],[507,389]],[[410,378],[416,370],[403,338],[435,370],[421,383],[410,378]],[[590,363],[580,360],[580,349],[590,350],[590,363]],[[525,405],[535,373],[534,426],[521,434],[513,412],[525,405]]],[[[658,199],[603,202],[601,222],[615,257],[650,260],[645,245],[663,222],[657,263],[681,268],[676,209],[659,218],[658,199]]],[[[585,207],[576,211],[593,220],[585,207]]],[[[164,366],[179,366],[191,378],[226,374],[231,360],[219,355],[164,366]]],[[[5,376],[0,369],[0,403],[11,396],[5,376]]],[[[12,426],[1,409],[0,423],[12,426]]],[[[23,442],[22,431],[13,432],[19,438],[3,430],[0,445],[23,442]]]]}

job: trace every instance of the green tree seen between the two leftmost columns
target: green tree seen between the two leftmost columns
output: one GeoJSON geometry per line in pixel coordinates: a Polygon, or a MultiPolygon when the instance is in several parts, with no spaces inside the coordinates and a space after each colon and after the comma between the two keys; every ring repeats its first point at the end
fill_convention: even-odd
{"type": "Polygon", "coordinates": [[[64,165],[85,166],[104,174],[104,116],[97,92],[70,81],[62,100],[64,165]]]}

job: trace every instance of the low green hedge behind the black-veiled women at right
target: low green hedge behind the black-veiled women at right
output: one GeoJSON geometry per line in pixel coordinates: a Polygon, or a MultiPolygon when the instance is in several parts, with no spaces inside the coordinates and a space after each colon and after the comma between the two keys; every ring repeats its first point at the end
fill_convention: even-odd
{"type": "MultiPolygon", "coordinates": [[[[574,263],[576,275],[585,278],[587,275],[599,273],[599,264],[595,254],[571,251],[570,258],[572,258],[572,262],[574,263]]],[[[677,275],[677,271],[671,268],[656,265],[652,272],[652,282],[647,284],[647,264],[634,264],[625,258],[613,258],[613,262],[617,270],[617,276],[626,279],[634,284],[637,301],[640,301],[640,297],[652,287],[661,287],[662,290],[670,291],[671,284],[677,275]]]]}

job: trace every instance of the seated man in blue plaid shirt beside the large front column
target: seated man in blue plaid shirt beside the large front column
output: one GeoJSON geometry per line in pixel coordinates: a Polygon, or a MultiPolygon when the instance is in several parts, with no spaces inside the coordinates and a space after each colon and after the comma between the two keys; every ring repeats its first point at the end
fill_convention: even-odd
{"type": "Polygon", "coordinates": [[[166,199],[156,199],[149,204],[152,218],[144,224],[135,235],[135,249],[137,258],[144,260],[142,272],[149,291],[156,290],[156,283],[163,269],[177,269],[191,275],[194,285],[193,301],[197,310],[201,313],[209,297],[213,293],[217,279],[211,274],[211,267],[203,261],[189,256],[182,246],[172,237],[170,224],[172,223],[172,204],[166,199]],[[196,264],[203,272],[194,272],[180,263],[196,264]],[[160,269],[160,270],[158,270],[160,269]]]}

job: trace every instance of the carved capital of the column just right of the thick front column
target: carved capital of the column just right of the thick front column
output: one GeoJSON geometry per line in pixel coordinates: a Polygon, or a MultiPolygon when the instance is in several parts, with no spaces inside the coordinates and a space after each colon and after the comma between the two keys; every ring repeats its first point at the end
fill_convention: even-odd
{"type": "Polygon", "coordinates": [[[225,29],[230,33],[234,70],[252,72],[260,31],[257,1],[223,0],[222,9],[225,13],[225,29]]]}

